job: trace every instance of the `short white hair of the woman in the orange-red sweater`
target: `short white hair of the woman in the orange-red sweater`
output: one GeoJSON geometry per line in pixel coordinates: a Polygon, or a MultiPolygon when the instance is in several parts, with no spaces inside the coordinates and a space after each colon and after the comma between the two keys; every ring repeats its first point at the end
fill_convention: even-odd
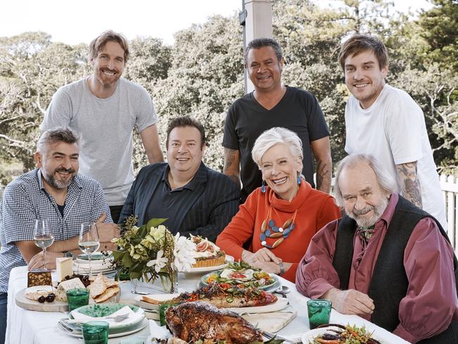
{"type": "Polygon", "coordinates": [[[252,149],[252,158],[254,162],[261,168],[262,156],[273,146],[283,144],[290,149],[290,153],[295,158],[304,158],[302,153],[302,141],[299,136],[286,128],[275,127],[264,131],[254,142],[252,149]]]}

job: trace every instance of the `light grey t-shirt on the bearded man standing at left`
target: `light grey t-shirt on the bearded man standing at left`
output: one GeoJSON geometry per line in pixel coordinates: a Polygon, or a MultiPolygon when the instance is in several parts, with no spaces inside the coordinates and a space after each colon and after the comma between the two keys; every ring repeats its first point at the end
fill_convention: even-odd
{"type": "Polygon", "coordinates": [[[68,127],[80,135],[80,173],[99,181],[109,205],[124,204],[134,181],[132,129],[157,122],[147,90],[123,78],[113,95],[97,98],[87,78],[57,90],[41,126],[68,127]]]}

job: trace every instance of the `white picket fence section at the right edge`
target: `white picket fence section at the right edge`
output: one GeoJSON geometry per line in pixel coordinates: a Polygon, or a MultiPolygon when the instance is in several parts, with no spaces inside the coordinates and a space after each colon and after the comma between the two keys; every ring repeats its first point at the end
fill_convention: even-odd
{"type": "Polygon", "coordinates": [[[458,254],[458,178],[445,176],[445,174],[440,175],[440,188],[447,215],[448,237],[454,251],[458,254]]]}

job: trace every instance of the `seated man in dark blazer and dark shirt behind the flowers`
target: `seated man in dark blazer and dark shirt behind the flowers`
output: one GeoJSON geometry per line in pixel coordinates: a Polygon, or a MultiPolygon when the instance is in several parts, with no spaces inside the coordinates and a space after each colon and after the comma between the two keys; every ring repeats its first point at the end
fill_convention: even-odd
{"type": "Polygon", "coordinates": [[[138,216],[141,226],[153,218],[171,233],[202,235],[212,242],[237,212],[240,190],[223,173],[202,162],[205,131],[188,116],[167,129],[167,163],[142,168],[130,189],[119,223],[138,216]]]}

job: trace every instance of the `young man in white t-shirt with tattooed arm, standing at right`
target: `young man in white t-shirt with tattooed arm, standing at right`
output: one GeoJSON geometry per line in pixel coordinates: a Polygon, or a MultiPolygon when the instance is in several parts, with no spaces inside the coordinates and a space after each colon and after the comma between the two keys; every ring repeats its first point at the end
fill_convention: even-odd
{"type": "Polygon", "coordinates": [[[447,231],[423,111],[409,94],[385,84],[385,45],[370,35],[354,35],[342,44],[338,59],[352,93],[345,107],[345,151],[375,156],[396,178],[402,195],[447,231]]]}

